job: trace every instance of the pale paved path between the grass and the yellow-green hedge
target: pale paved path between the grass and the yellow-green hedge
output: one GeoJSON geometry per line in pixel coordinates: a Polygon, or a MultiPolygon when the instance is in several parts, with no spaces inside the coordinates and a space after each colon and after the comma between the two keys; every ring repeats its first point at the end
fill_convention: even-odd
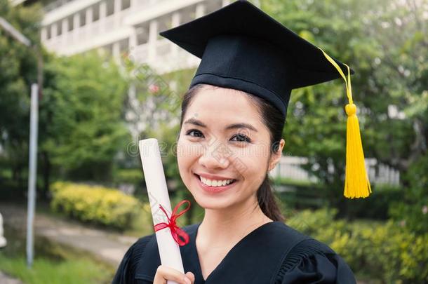
{"type": "MultiPolygon", "coordinates": [[[[27,222],[25,208],[0,203],[0,212],[5,224],[15,229],[25,230],[27,222]]],[[[44,236],[51,241],[91,252],[95,257],[100,257],[113,266],[119,266],[126,250],[137,241],[137,238],[99,229],[88,229],[77,222],[67,222],[40,213],[36,214],[34,231],[36,235],[44,236]]],[[[3,282],[0,281],[0,283],[3,282]]]]}

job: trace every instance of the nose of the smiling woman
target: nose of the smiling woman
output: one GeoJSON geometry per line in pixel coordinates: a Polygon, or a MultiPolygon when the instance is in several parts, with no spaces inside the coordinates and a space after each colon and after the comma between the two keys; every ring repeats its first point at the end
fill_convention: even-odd
{"type": "Polygon", "coordinates": [[[224,142],[206,144],[203,154],[199,157],[199,164],[210,170],[225,169],[230,165],[232,153],[224,142]]]}

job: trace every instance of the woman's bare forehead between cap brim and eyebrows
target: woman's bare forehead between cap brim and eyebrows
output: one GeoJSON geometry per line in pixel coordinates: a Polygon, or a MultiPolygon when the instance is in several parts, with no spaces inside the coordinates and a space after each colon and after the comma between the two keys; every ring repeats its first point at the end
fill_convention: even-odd
{"type": "Polygon", "coordinates": [[[251,102],[249,95],[239,90],[204,87],[193,97],[185,120],[189,118],[216,122],[260,123],[258,107],[251,102]]]}

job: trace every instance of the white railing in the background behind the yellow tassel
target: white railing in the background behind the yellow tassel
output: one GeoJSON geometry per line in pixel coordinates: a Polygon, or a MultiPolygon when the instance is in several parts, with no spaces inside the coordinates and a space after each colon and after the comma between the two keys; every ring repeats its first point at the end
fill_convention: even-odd
{"type": "MultiPolygon", "coordinates": [[[[317,178],[310,176],[302,168],[308,159],[305,157],[283,156],[278,165],[269,175],[273,178],[286,178],[296,181],[317,182],[317,178]]],[[[332,169],[334,171],[334,169],[332,169]]],[[[400,184],[400,172],[394,168],[378,163],[375,158],[366,158],[366,170],[371,184],[389,184],[398,186],[400,184]]]]}

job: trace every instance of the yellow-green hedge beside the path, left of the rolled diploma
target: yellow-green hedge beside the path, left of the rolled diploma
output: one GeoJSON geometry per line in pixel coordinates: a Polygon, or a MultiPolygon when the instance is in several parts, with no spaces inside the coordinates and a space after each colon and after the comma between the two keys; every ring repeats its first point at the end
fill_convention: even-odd
{"type": "Polygon", "coordinates": [[[83,222],[123,229],[140,210],[140,202],[116,189],[55,182],[51,208],[83,222]]]}

